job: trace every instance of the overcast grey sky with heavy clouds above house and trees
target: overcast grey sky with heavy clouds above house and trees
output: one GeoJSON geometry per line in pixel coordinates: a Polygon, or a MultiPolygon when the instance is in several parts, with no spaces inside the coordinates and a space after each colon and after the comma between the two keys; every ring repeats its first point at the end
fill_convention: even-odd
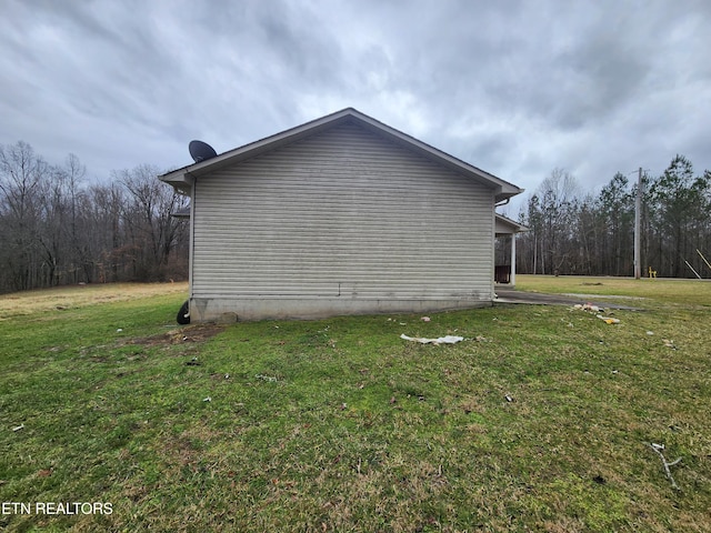
{"type": "Polygon", "coordinates": [[[87,181],[348,107],[528,192],[554,168],[591,191],[677,153],[711,169],[707,0],[0,7],[0,144],[74,153],[87,181]]]}

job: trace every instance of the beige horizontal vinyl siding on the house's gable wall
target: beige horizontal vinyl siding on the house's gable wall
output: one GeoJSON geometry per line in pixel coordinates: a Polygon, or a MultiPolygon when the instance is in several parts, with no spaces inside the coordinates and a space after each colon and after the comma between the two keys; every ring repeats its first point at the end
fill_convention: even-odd
{"type": "Polygon", "coordinates": [[[493,192],[354,124],[199,178],[193,298],[491,300],[493,192]]]}

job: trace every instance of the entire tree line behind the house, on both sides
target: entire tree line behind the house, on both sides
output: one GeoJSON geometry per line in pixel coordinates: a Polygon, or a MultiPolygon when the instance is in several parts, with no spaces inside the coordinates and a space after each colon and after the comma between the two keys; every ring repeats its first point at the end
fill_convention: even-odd
{"type": "MultiPolygon", "coordinates": [[[[188,276],[189,227],[172,217],[189,199],[144,164],[89,183],[79,158],[49,164],[31,145],[0,144],[0,293],[188,276]]],[[[641,269],[659,276],[711,278],[711,172],[677,155],[642,177],[641,269]]],[[[634,179],[617,173],[598,194],[555,169],[518,221],[521,273],[633,275],[634,179]]],[[[498,243],[498,254],[507,247],[498,243]]],[[[498,255],[499,257],[499,255],[498,255]]]]}

